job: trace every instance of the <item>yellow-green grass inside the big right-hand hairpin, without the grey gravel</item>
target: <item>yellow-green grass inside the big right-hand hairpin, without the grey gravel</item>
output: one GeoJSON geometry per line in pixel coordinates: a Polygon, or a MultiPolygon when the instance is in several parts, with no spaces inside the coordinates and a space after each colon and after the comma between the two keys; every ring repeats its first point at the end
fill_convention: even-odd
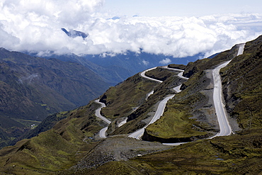
{"type": "Polygon", "coordinates": [[[164,116],[147,127],[147,135],[161,137],[166,139],[165,142],[171,142],[174,138],[188,138],[189,141],[195,140],[192,137],[207,137],[212,134],[212,132],[206,131],[212,131],[213,125],[202,119],[206,114],[195,114],[195,111],[201,111],[201,108],[210,109],[205,108],[205,106],[209,106],[209,97],[201,93],[209,86],[210,79],[207,79],[204,72],[202,74],[196,73],[183,84],[190,85],[166,104],[164,116]],[[198,83],[203,80],[205,83],[198,83]]]}

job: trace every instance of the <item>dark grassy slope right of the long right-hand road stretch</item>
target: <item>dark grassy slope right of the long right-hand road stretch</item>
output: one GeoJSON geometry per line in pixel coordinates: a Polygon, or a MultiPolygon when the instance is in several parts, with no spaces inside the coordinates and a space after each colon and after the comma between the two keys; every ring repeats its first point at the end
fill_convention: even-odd
{"type": "Polygon", "coordinates": [[[227,111],[241,128],[262,127],[262,37],[246,43],[244,54],[222,69],[227,111]]]}

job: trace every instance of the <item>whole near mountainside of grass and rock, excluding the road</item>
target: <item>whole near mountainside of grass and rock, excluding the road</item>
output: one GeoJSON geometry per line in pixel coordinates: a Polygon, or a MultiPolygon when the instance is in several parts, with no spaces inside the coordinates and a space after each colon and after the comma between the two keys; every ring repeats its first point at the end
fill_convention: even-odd
{"type": "Polygon", "coordinates": [[[108,125],[96,118],[99,104],[57,113],[55,126],[37,137],[21,140],[0,150],[0,171],[6,174],[259,174],[261,172],[261,50],[262,37],[246,43],[243,55],[238,46],[212,59],[198,60],[185,69],[186,81],[178,72],[159,67],[147,76],[136,74],[99,99],[108,125]],[[212,103],[212,75],[218,64],[232,60],[221,70],[225,106],[234,135],[202,139],[219,132],[212,103]],[[172,88],[181,86],[181,92],[172,88]],[[154,90],[154,94],[147,94],[154,90]],[[176,94],[166,105],[164,116],[149,125],[144,139],[188,142],[171,147],[127,137],[149,123],[164,97],[176,94]],[[120,126],[127,118],[127,123],[120,126]],[[108,125],[106,139],[98,136],[108,125]],[[181,127],[183,126],[183,127],[181,127]],[[164,150],[165,149],[165,150],[164,150]],[[163,151],[164,150],[164,151],[163,151]],[[132,158],[132,159],[131,159],[132,158]]]}

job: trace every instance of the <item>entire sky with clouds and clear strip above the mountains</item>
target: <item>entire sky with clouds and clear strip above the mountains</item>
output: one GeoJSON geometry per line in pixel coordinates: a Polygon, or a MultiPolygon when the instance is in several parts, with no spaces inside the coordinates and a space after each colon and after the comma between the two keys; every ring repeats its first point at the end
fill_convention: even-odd
{"type": "Polygon", "coordinates": [[[0,47],[62,55],[210,56],[262,35],[262,1],[1,0],[0,47]],[[79,30],[70,38],[61,28],[79,30]]]}

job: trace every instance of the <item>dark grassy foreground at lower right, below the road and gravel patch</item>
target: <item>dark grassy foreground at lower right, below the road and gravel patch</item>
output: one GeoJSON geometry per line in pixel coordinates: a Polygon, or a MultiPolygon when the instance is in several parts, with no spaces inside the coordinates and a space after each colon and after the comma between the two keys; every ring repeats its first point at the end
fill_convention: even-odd
{"type": "MultiPolygon", "coordinates": [[[[89,174],[260,174],[261,129],[238,135],[198,140],[127,162],[109,162],[89,174]]],[[[83,173],[84,174],[84,173],[83,173]]]]}

